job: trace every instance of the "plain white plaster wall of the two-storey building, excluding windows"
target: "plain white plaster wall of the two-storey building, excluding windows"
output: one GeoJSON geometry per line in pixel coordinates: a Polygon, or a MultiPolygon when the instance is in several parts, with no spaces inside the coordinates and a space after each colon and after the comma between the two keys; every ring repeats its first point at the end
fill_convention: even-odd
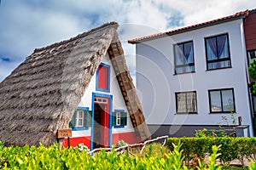
{"type": "MultiPolygon", "coordinates": [[[[221,116],[209,114],[208,90],[234,88],[236,118],[252,127],[247,92],[247,64],[242,20],[188,31],[136,45],[137,90],[148,124],[217,125],[221,116]],[[232,68],[207,71],[205,37],[228,33],[232,68]],[[195,73],[174,75],[173,44],[193,40],[195,73]],[[198,114],[176,114],[176,92],[196,91],[198,114]]],[[[250,129],[251,135],[253,129],[250,129]]]]}

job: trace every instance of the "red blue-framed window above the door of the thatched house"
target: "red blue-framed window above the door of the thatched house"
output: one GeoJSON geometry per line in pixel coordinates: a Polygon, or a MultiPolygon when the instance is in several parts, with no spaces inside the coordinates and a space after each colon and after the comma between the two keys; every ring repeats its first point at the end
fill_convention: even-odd
{"type": "Polygon", "coordinates": [[[109,92],[110,89],[110,66],[101,63],[96,71],[96,90],[109,92]]]}

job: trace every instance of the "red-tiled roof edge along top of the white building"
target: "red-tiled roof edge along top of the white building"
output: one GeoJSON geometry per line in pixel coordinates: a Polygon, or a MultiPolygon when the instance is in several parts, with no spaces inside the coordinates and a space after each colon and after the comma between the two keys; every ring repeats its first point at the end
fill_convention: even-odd
{"type": "Polygon", "coordinates": [[[247,10],[244,10],[244,11],[236,12],[236,14],[230,14],[230,15],[218,18],[218,19],[208,20],[208,21],[201,22],[201,23],[198,23],[198,24],[195,24],[195,25],[183,26],[183,27],[180,27],[180,28],[177,28],[177,29],[173,29],[171,31],[161,31],[159,33],[150,34],[148,36],[137,37],[137,38],[128,40],[128,43],[136,43],[138,41],[145,40],[145,39],[148,39],[148,38],[159,37],[159,36],[167,35],[167,34],[170,34],[170,33],[173,33],[173,32],[177,32],[177,31],[185,31],[185,30],[189,30],[191,28],[195,28],[197,26],[209,25],[209,24],[212,24],[214,22],[218,22],[218,21],[222,21],[222,20],[236,19],[236,17],[240,17],[240,16],[247,17],[249,13],[254,13],[254,12],[256,12],[256,8],[251,9],[251,10],[247,9],[247,10]]]}

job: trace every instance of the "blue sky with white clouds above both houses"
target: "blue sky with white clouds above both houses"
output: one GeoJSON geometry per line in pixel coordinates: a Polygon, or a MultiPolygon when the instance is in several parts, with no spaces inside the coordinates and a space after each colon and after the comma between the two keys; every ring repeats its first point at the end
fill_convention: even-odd
{"type": "Polygon", "coordinates": [[[109,21],[119,23],[119,37],[134,74],[135,46],[128,44],[128,39],[252,8],[256,8],[255,0],[1,0],[0,82],[34,48],[69,39],[109,21]]]}

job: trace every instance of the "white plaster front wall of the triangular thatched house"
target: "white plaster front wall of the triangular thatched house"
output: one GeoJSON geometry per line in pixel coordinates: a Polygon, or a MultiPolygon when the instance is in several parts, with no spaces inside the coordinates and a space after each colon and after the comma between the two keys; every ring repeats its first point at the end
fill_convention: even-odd
{"type": "MultiPolygon", "coordinates": [[[[78,106],[80,107],[89,107],[89,110],[91,111],[91,98],[92,93],[96,94],[108,94],[113,95],[113,111],[114,110],[125,110],[127,112],[127,126],[124,128],[113,128],[112,133],[127,133],[127,132],[134,132],[134,129],[131,124],[131,120],[129,118],[129,114],[127,111],[127,108],[125,106],[125,101],[123,99],[123,96],[121,94],[119,83],[117,82],[117,79],[115,77],[115,73],[113,71],[113,66],[111,64],[111,60],[108,57],[108,54],[106,54],[102,58],[102,63],[110,65],[111,71],[110,71],[110,92],[102,92],[102,91],[96,91],[96,74],[91,78],[90,84],[88,88],[85,89],[84,96],[82,97],[80,103],[78,106]]],[[[88,130],[79,130],[79,131],[73,131],[73,137],[80,137],[80,136],[90,136],[91,127],[89,127],[88,130]]]]}

